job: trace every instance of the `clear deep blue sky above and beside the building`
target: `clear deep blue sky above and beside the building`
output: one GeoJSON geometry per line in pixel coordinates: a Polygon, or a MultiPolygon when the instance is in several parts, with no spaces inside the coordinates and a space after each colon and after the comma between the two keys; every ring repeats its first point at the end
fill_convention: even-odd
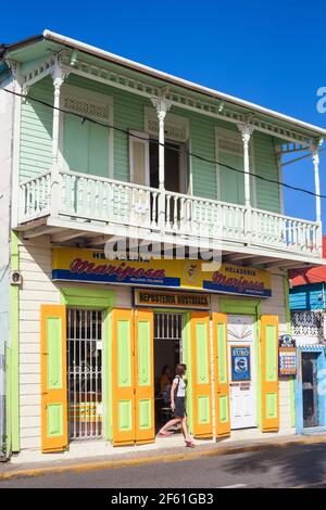
{"type": "MultiPolygon", "coordinates": [[[[326,86],[326,4],[294,0],[17,0],[1,5],[0,42],[45,28],[223,92],[326,127],[316,90],[326,86]]],[[[288,183],[314,190],[311,162],[288,166],[288,183]]],[[[326,194],[326,156],[321,165],[326,194]]],[[[286,212],[314,219],[314,199],[285,191],[286,212]]],[[[326,228],[326,200],[322,201],[326,228]]]]}

